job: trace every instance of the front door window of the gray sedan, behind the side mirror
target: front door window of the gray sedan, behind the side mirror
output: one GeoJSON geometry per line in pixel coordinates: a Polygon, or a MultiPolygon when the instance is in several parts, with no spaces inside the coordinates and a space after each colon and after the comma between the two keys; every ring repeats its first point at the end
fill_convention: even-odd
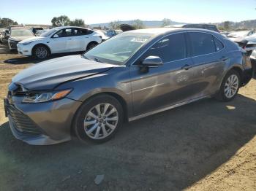
{"type": "Polygon", "coordinates": [[[186,40],[184,34],[173,34],[154,44],[142,57],[159,56],[164,63],[177,61],[187,57],[186,40]]]}

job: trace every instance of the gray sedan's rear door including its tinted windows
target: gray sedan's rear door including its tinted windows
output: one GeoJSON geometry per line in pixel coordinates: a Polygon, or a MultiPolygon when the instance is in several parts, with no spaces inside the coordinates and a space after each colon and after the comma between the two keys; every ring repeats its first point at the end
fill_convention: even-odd
{"type": "Polygon", "coordinates": [[[197,96],[214,93],[225,69],[224,45],[212,34],[188,32],[197,96]]]}

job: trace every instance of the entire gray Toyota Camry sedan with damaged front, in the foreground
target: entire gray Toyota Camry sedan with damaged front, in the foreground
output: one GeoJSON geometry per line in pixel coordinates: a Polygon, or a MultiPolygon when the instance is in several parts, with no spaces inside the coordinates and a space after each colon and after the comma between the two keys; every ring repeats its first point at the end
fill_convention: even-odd
{"type": "Polygon", "coordinates": [[[251,77],[246,53],[221,34],[143,29],[21,71],[4,106],[13,135],[29,144],[69,141],[73,133],[101,142],[126,121],[206,97],[231,101],[251,77]]]}

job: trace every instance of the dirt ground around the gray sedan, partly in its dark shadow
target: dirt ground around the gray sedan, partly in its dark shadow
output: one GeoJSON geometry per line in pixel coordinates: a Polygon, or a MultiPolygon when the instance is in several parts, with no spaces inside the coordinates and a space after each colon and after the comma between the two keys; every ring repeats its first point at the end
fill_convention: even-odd
{"type": "MultiPolygon", "coordinates": [[[[11,78],[34,63],[0,45],[1,102],[11,78]]],[[[25,144],[2,103],[0,124],[0,190],[256,190],[255,79],[230,103],[204,99],[155,114],[105,144],[25,144]]]]}

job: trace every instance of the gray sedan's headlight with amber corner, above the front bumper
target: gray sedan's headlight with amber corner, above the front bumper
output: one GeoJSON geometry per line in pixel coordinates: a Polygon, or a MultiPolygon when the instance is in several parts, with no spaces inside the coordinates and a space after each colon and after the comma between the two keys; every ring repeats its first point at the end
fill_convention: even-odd
{"type": "Polygon", "coordinates": [[[47,93],[29,93],[23,98],[23,103],[42,103],[64,98],[72,89],[47,93]]]}

